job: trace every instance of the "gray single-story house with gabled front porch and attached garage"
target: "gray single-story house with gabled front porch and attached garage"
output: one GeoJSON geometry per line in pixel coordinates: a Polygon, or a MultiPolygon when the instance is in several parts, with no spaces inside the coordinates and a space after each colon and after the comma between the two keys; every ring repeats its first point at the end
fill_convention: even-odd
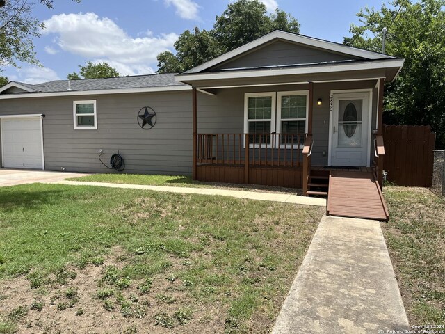
{"type": "Polygon", "coordinates": [[[315,166],[375,168],[403,61],[273,31],[181,74],[12,81],[1,166],[103,173],[119,152],[126,173],[307,190],[315,166]]]}

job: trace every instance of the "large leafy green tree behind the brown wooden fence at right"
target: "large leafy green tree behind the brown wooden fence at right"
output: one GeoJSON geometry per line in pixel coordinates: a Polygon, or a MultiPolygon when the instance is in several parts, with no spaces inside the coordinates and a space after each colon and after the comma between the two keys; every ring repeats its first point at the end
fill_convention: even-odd
{"type": "Polygon", "coordinates": [[[398,78],[385,86],[386,121],[431,125],[437,148],[445,148],[445,6],[444,0],[394,0],[380,11],[364,8],[351,25],[346,45],[381,51],[387,27],[387,54],[405,58],[398,78]]]}

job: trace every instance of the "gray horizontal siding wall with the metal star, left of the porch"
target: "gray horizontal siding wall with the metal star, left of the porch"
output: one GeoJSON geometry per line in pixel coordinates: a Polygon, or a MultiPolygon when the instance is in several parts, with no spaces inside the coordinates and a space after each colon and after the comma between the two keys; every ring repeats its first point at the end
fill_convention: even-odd
{"type": "Polygon", "coordinates": [[[119,150],[127,173],[191,174],[191,92],[85,95],[0,100],[2,115],[44,113],[44,162],[47,170],[111,173],[106,164],[119,150]],[[97,130],[74,130],[73,101],[97,100],[97,130]],[[156,111],[156,125],[141,129],[137,113],[156,111]]]}

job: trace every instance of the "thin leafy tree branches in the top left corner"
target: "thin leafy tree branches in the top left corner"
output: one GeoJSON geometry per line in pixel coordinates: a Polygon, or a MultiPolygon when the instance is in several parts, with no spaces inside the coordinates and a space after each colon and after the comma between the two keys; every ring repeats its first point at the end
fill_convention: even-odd
{"type": "MultiPolygon", "coordinates": [[[[40,0],[40,3],[47,8],[53,5],[52,0],[40,0]]],[[[34,6],[35,3],[29,0],[0,1],[0,67],[18,67],[17,61],[39,64],[33,38],[40,37],[44,24],[33,17],[34,6]]]]}

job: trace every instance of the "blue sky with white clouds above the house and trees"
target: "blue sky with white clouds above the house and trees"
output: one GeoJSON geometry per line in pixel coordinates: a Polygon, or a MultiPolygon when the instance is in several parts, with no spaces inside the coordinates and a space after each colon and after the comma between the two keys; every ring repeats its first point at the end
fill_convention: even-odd
{"type": "MultiPolygon", "coordinates": [[[[382,0],[262,0],[270,12],[285,10],[301,24],[300,33],[333,42],[350,35],[351,23],[364,6],[380,8],[382,0]]],[[[66,79],[86,61],[106,61],[122,75],[156,71],[156,54],[174,51],[177,36],[194,26],[211,29],[229,0],[55,0],[54,9],[36,6],[46,24],[35,51],[43,67],[7,67],[8,79],[38,84],[66,79]]]]}

